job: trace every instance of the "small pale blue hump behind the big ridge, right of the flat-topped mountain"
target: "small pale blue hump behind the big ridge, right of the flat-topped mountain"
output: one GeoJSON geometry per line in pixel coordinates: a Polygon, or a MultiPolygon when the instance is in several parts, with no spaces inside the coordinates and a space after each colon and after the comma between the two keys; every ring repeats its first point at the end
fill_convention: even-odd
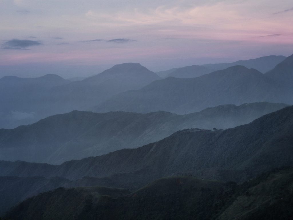
{"type": "Polygon", "coordinates": [[[171,76],[176,78],[194,78],[194,77],[205,75],[207,73],[211,73],[213,71],[214,70],[204,66],[192,65],[192,66],[178,68],[175,71],[172,71],[170,74],[168,74],[167,77],[171,76]]]}

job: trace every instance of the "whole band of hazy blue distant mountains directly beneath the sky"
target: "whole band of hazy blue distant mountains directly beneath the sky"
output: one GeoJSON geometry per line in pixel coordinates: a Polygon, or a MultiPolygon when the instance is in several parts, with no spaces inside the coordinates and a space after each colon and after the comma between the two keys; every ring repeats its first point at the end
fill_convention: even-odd
{"type": "MultiPolygon", "coordinates": [[[[279,61],[281,62],[272,72],[265,75],[239,66],[229,67],[225,71],[221,70],[222,74],[212,72],[217,69],[216,67],[196,65],[168,71],[170,76],[175,77],[203,75],[202,78],[197,77],[196,80],[191,81],[189,79],[159,80],[161,78],[156,73],[138,63],[115,65],[98,75],[73,82],[53,74],[35,79],[3,77],[0,79],[0,102],[2,104],[0,106],[0,126],[1,128],[15,128],[19,125],[34,123],[50,115],[73,110],[91,109],[98,112],[118,110],[141,113],[164,110],[186,114],[221,104],[239,105],[258,101],[292,104],[292,100],[289,98],[292,89],[288,89],[290,84],[279,83],[287,82],[287,79],[292,77],[290,72],[292,56],[284,59],[283,56],[268,56],[229,64],[243,64],[255,68],[263,66],[269,70],[279,61]],[[283,73],[280,74],[280,71],[283,73]],[[239,75],[240,72],[242,72],[242,76],[239,75]],[[252,72],[254,73],[252,74],[252,72]],[[206,76],[209,75],[207,73],[210,76],[206,76]],[[245,76],[244,73],[246,73],[245,76]],[[284,74],[287,77],[282,77],[284,74]],[[243,84],[239,85],[241,80],[243,80],[243,84]],[[268,91],[268,87],[271,87],[272,91],[268,91]],[[146,91],[148,89],[152,91],[146,91]],[[244,94],[244,97],[241,97],[240,89],[244,89],[246,93],[250,94],[244,94]],[[138,91],[135,92],[135,90],[138,91]],[[214,91],[215,94],[211,91],[214,91]],[[124,97],[125,94],[127,94],[126,97],[124,97]],[[203,94],[202,99],[200,94],[203,94]],[[115,95],[118,95],[118,98],[116,97],[119,99],[118,101],[115,95]],[[212,99],[214,96],[216,100],[212,99]],[[240,97],[239,100],[238,97],[240,97]],[[137,104],[136,101],[138,101],[137,104]],[[214,103],[214,101],[216,102],[214,103]]],[[[220,68],[224,67],[226,66],[220,68]]]]}

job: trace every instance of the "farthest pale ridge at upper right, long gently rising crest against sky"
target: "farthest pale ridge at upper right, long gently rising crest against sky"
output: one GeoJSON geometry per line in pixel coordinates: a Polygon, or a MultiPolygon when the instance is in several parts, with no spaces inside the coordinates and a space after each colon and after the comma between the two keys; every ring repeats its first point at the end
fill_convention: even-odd
{"type": "Polygon", "coordinates": [[[285,60],[285,58],[286,57],[284,56],[271,55],[271,56],[259,57],[256,59],[250,59],[250,60],[238,60],[232,63],[205,64],[202,66],[208,67],[213,70],[224,70],[228,67],[242,65],[247,67],[248,69],[253,68],[262,73],[265,73],[265,72],[268,72],[269,70],[272,70],[278,63],[285,60]]]}

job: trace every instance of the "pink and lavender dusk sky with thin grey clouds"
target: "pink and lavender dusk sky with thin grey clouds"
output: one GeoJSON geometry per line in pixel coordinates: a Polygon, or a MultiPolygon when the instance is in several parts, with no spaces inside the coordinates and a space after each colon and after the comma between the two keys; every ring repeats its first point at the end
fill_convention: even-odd
{"type": "Polygon", "coordinates": [[[289,56],[292,18],[292,0],[0,0],[0,77],[289,56]]]}

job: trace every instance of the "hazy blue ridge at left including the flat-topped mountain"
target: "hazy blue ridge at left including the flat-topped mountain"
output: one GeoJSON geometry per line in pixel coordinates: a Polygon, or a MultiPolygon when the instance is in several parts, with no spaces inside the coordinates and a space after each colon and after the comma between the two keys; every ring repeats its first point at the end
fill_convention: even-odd
{"type": "Polygon", "coordinates": [[[86,110],[115,94],[139,89],[157,79],[158,75],[138,63],[115,65],[75,82],[57,75],[35,79],[3,77],[0,126],[13,128],[54,114],[86,110]]]}

